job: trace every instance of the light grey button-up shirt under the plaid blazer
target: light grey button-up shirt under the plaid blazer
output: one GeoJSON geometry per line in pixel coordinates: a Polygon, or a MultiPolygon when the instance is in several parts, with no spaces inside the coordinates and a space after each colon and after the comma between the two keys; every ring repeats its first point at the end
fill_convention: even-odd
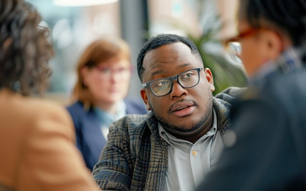
{"type": "Polygon", "coordinates": [[[215,167],[224,144],[217,130],[213,109],[211,129],[195,144],[178,139],[158,124],[159,135],[168,143],[168,169],[164,191],[194,191],[215,167]]]}

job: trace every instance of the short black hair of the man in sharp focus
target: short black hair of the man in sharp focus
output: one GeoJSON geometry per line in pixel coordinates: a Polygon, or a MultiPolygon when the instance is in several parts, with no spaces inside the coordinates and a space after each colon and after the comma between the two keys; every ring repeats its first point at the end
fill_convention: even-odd
{"type": "Polygon", "coordinates": [[[171,43],[175,43],[175,42],[183,42],[184,44],[189,46],[189,48],[191,49],[191,53],[193,55],[197,56],[199,58],[199,60],[201,62],[203,62],[202,57],[201,57],[201,55],[200,55],[200,53],[197,49],[197,46],[191,40],[189,40],[185,37],[174,35],[174,34],[159,34],[159,35],[149,39],[144,44],[144,46],[140,50],[140,53],[138,54],[137,72],[138,72],[138,76],[139,76],[139,79],[140,79],[141,82],[142,82],[143,73],[145,71],[145,68],[142,66],[142,62],[143,62],[143,59],[145,58],[146,53],[148,51],[153,50],[155,48],[158,48],[162,45],[171,44],[171,43]]]}

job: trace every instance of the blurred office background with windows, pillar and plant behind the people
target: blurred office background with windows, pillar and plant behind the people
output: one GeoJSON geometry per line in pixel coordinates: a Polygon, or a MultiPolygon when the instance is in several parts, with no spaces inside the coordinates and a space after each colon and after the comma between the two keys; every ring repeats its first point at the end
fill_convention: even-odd
{"type": "Polygon", "coordinates": [[[56,51],[45,97],[63,104],[76,81],[76,64],[84,48],[104,36],[118,36],[131,47],[133,72],[129,96],[140,97],[138,52],[146,40],[159,33],[191,38],[199,48],[204,66],[214,75],[216,92],[228,86],[244,86],[240,62],[227,59],[222,41],[236,35],[238,0],[26,0],[49,26],[56,51]]]}

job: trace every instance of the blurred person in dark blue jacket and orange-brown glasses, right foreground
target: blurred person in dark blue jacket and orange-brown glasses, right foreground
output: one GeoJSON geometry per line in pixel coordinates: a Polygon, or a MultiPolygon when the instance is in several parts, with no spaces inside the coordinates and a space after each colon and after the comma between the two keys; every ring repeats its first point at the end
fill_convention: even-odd
{"type": "Polygon", "coordinates": [[[240,0],[239,32],[227,43],[241,47],[251,88],[231,110],[232,147],[199,191],[305,191],[306,1],[240,0]]]}

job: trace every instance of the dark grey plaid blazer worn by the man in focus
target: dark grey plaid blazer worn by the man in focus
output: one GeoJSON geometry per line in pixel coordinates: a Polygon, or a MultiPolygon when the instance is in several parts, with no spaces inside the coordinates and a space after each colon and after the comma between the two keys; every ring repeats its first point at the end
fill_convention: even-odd
{"type": "MultiPolygon", "coordinates": [[[[231,103],[244,88],[230,87],[217,94],[213,106],[224,142],[230,128],[231,103]]],[[[102,190],[162,191],[168,165],[168,146],[159,136],[157,119],[127,115],[109,127],[108,143],[92,176],[102,190]]]]}

